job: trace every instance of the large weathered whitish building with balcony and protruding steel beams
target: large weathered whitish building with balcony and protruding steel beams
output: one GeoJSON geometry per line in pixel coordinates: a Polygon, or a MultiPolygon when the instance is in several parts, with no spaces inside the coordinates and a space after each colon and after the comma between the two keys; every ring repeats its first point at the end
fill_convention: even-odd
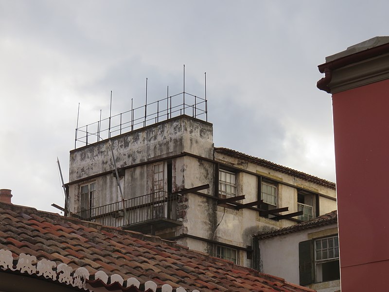
{"type": "Polygon", "coordinates": [[[334,183],[214,147],[212,124],[195,116],[98,140],[70,152],[73,216],[175,240],[237,264],[253,265],[254,233],[336,209],[334,183]]]}

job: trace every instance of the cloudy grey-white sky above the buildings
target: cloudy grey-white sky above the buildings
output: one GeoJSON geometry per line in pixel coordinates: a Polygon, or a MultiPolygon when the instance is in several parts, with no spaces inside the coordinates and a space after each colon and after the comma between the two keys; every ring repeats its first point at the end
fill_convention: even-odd
{"type": "Polygon", "coordinates": [[[388,35],[387,1],[0,0],[0,189],[59,212],[79,126],[183,90],[217,147],[335,182],[325,57],[388,35]],[[341,3],[341,5],[340,5],[341,3]]]}

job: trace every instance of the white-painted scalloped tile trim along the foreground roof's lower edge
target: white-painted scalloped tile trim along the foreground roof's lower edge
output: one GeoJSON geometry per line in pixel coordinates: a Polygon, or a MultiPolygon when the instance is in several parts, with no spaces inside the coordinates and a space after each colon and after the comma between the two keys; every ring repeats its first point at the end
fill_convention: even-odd
{"type": "MultiPolygon", "coordinates": [[[[60,283],[65,283],[73,287],[84,288],[86,287],[86,279],[90,280],[89,272],[84,267],[77,268],[74,272],[73,269],[67,264],[60,263],[56,264],[54,261],[48,259],[41,259],[36,261],[35,256],[20,254],[18,259],[15,259],[16,269],[14,269],[14,258],[12,253],[8,250],[0,250],[0,269],[1,270],[11,270],[18,271],[20,273],[28,273],[30,275],[36,274],[38,276],[44,276],[47,279],[53,281],[58,280],[60,283]]],[[[94,274],[95,280],[100,280],[104,284],[110,283],[113,284],[117,282],[123,288],[135,286],[138,289],[141,286],[141,282],[134,278],[128,278],[124,280],[123,277],[119,274],[112,274],[108,276],[104,271],[98,271],[94,274]]],[[[143,285],[144,291],[150,289],[153,292],[157,291],[158,285],[154,281],[147,281],[143,285]]],[[[161,287],[161,292],[187,292],[184,288],[173,288],[169,284],[163,284],[161,287]]],[[[188,291],[189,292],[189,291],[188,291]]],[[[193,290],[192,292],[200,292],[198,290],[193,290]]]]}

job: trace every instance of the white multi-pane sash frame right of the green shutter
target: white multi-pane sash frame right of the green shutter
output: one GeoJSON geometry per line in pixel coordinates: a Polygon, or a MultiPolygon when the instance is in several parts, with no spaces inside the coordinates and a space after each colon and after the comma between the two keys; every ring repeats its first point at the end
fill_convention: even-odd
{"type": "Polygon", "coordinates": [[[339,237],[324,237],[315,239],[315,282],[323,282],[323,264],[339,261],[339,237]],[[332,256],[331,256],[332,254],[332,256]]]}

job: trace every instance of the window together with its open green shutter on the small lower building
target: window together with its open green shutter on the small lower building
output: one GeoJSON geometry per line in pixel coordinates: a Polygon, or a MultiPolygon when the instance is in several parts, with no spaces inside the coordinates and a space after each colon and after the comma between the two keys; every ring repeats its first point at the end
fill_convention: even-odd
{"type": "Polygon", "coordinates": [[[300,285],[340,279],[338,236],[299,243],[300,285]]]}

